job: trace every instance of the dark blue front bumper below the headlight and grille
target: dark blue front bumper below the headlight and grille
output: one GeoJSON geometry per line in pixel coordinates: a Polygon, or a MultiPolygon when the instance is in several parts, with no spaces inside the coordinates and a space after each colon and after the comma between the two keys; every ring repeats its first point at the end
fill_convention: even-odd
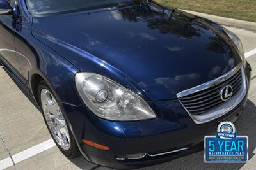
{"type": "MultiPolygon", "coordinates": [[[[249,87],[249,64],[245,72],[249,87]]],[[[246,101],[247,94],[232,111],[205,124],[195,124],[177,99],[148,102],[154,111],[159,113],[157,118],[134,122],[103,120],[91,113],[84,104],[77,107],[63,103],[63,107],[86,159],[106,167],[131,169],[165,162],[202,150],[204,136],[216,134],[216,127],[224,120],[235,122],[243,113],[246,101]],[[107,146],[109,150],[93,148],[83,143],[83,139],[107,146]],[[172,152],[175,150],[178,152],[172,152]],[[117,159],[137,153],[147,154],[141,159],[117,159]]]]}

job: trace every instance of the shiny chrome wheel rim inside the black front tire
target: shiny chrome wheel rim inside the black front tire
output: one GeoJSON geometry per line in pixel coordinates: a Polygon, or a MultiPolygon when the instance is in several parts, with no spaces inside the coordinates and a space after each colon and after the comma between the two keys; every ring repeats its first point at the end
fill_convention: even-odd
{"type": "Polygon", "coordinates": [[[70,136],[67,123],[56,99],[47,89],[41,90],[41,104],[52,136],[63,150],[68,150],[70,148],[70,136]]]}

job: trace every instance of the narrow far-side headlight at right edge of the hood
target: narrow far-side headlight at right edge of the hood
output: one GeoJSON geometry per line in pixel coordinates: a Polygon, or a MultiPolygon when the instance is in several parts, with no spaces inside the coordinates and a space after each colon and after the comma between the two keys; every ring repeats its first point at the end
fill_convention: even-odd
{"type": "Polygon", "coordinates": [[[239,51],[239,55],[243,61],[243,66],[246,66],[246,60],[244,57],[244,48],[243,48],[243,44],[241,39],[234,34],[233,32],[229,31],[228,29],[226,29],[225,27],[223,27],[224,31],[227,33],[227,35],[229,36],[229,38],[233,41],[233,43],[236,45],[238,51],[239,51]]]}

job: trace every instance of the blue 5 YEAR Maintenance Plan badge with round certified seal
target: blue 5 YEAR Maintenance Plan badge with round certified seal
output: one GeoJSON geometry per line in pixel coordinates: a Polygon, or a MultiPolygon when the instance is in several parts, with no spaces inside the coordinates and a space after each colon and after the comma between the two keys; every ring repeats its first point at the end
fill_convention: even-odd
{"type": "Polygon", "coordinates": [[[205,136],[205,162],[247,162],[248,136],[237,136],[231,122],[221,122],[216,136],[205,136]]]}

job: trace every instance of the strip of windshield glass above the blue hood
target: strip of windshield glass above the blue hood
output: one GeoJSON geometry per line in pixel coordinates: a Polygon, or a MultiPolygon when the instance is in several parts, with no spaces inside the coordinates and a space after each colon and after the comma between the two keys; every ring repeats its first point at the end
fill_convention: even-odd
{"type": "Polygon", "coordinates": [[[26,0],[28,9],[33,14],[60,13],[72,10],[92,10],[134,3],[140,0],[26,0]]]}

